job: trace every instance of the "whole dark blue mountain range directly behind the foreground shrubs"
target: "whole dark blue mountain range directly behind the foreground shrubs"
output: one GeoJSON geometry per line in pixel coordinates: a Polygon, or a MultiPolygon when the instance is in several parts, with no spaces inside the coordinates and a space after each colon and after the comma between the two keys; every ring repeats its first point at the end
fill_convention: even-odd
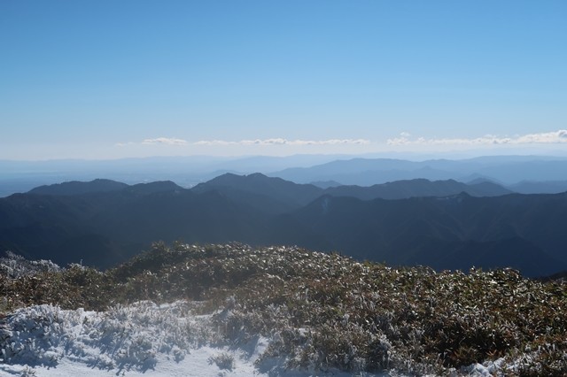
{"type": "MultiPolygon", "coordinates": [[[[394,164],[395,165],[395,164],[394,164]]],[[[261,173],[186,189],[70,181],[0,199],[0,250],[108,267],[151,242],[297,244],[392,265],[567,270],[567,194],[478,179],[317,187],[261,173]]]]}

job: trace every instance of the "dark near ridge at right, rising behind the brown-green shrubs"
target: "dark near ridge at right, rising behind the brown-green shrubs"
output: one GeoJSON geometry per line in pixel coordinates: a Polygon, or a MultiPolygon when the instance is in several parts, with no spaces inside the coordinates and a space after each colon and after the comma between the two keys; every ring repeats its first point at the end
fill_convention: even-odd
{"type": "Polygon", "coordinates": [[[565,194],[372,201],[322,196],[273,219],[271,235],[394,265],[509,265],[541,276],[567,266],[565,221],[565,194]]]}

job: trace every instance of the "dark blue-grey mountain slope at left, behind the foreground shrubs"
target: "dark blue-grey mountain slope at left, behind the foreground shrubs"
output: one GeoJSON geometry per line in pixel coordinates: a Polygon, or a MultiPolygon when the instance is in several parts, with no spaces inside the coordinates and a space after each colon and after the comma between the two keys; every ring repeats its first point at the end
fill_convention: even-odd
{"type": "Polygon", "coordinates": [[[217,192],[172,182],[83,195],[16,194],[0,199],[0,250],[56,263],[107,267],[151,242],[256,242],[262,216],[217,192]]]}

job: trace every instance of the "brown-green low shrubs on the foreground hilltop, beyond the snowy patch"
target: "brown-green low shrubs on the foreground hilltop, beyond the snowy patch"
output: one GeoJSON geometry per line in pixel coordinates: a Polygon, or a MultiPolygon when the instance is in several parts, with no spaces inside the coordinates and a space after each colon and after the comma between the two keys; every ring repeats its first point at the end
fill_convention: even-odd
{"type": "Polygon", "coordinates": [[[4,297],[19,295],[20,304],[113,307],[114,317],[97,327],[102,333],[93,328],[91,334],[106,339],[109,349],[127,347],[112,358],[117,366],[147,358],[151,367],[152,352],[183,358],[186,342],[236,346],[266,338],[271,343],[260,364],[278,358],[283,367],[313,371],[422,375],[505,358],[499,365],[512,374],[567,373],[567,286],[527,280],[513,270],[435,273],[297,247],[159,243],[105,273],[72,266],[0,282],[4,297]],[[176,335],[158,348],[148,342],[153,335],[130,333],[124,325],[153,321],[152,310],[142,309],[150,304],[136,315],[115,306],[179,299],[198,300],[191,310],[214,313],[213,319],[187,331],[164,328],[176,335]],[[129,343],[117,342],[114,333],[129,343]]]}

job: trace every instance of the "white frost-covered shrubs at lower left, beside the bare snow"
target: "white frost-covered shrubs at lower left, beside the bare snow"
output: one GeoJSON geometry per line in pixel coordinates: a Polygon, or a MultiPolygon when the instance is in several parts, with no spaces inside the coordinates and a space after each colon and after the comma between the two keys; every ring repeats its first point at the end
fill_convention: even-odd
{"type": "Polygon", "coordinates": [[[140,302],[107,312],[47,304],[22,308],[0,328],[2,362],[57,365],[66,357],[88,360],[99,369],[144,372],[155,367],[158,354],[179,361],[198,344],[214,342],[208,319],[194,316],[194,307],[140,302]]]}

